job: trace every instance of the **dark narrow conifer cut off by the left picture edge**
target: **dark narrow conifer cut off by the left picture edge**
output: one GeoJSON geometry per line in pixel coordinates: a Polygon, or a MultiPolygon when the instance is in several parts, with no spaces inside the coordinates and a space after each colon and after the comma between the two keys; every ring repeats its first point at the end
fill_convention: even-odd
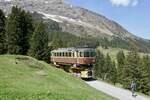
{"type": "Polygon", "coordinates": [[[3,11],[0,9],[0,54],[5,53],[5,39],[6,39],[6,34],[5,34],[5,15],[3,11]]]}

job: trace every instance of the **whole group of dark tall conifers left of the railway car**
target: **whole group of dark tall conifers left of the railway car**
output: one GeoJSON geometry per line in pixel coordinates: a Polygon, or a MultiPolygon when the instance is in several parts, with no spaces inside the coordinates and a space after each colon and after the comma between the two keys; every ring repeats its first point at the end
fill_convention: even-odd
{"type": "Polygon", "coordinates": [[[0,54],[29,55],[48,59],[48,33],[42,21],[17,6],[6,17],[0,10],[0,54]]]}

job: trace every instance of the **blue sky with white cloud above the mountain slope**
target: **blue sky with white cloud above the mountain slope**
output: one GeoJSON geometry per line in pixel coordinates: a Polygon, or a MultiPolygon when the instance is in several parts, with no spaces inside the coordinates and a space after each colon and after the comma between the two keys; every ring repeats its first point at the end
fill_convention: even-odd
{"type": "Polygon", "coordinates": [[[129,32],[150,39],[150,0],[65,0],[116,21],[129,32]]]}

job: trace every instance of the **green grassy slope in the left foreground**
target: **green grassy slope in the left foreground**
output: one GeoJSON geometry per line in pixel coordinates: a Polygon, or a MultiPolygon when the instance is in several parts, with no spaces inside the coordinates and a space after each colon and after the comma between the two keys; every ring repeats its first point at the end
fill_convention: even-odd
{"type": "Polygon", "coordinates": [[[69,73],[31,57],[0,56],[0,100],[114,100],[69,73]]]}

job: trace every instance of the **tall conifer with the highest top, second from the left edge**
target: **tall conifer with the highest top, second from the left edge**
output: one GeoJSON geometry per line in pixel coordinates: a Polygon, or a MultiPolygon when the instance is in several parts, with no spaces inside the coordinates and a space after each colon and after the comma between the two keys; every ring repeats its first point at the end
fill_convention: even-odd
{"type": "Polygon", "coordinates": [[[7,49],[10,54],[19,54],[20,47],[18,45],[19,35],[21,34],[20,28],[20,12],[21,9],[17,7],[12,7],[11,14],[8,15],[6,23],[6,33],[7,33],[7,49]]]}

